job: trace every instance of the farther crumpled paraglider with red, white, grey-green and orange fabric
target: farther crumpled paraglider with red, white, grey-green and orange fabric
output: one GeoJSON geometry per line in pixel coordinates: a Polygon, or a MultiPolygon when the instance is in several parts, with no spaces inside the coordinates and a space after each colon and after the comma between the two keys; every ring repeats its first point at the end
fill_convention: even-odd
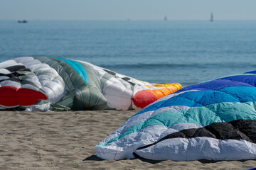
{"type": "Polygon", "coordinates": [[[0,63],[0,109],[140,109],[178,89],[180,84],[149,84],[76,60],[19,57],[0,63]]]}

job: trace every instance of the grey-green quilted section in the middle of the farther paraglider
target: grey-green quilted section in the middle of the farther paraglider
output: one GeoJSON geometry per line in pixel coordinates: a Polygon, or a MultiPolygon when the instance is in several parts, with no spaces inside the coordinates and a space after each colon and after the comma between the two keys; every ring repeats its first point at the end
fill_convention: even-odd
{"type": "Polygon", "coordinates": [[[85,84],[78,73],[62,60],[49,57],[35,58],[53,67],[63,77],[66,94],[58,104],[69,106],[76,111],[108,108],[107,101],[101,93],[102,86],[97,72],[89,64],[79,62],[87,72],[88,84],[85,84]],[[72,100],[69,98],[72,98],[72,100]]]}

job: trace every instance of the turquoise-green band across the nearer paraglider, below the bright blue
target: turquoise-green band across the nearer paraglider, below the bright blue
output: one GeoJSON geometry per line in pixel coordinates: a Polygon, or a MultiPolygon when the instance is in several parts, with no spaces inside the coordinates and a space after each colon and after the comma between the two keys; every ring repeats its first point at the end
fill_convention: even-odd
{"type": "Polygon", "coordinates": [[[177,123],[194,123],[196,125],[210,125],[212,123],[230,122],[233,120],[256,120],[256,102],[245,103],[215,103],[209,106],[191,108],[184,111],[167,111],[154,115],[144,122],[134,125],[121,135],[112,138],[103,145],[105,146],[133,132],[139,132],[151,125],[163,125],[170,127],[177,123]],[[215,111],[215,113],[213,112],[215,111]],[[218,115],[216,115],[218,113],[218,115]]]}

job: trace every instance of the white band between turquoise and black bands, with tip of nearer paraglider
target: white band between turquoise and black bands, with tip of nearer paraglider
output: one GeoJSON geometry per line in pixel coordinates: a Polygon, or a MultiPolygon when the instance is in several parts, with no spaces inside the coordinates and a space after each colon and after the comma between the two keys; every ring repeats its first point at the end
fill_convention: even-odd
{"type": "MultiPolygon", "coordinates": [[[[115,157],[115,159],[133,158],[134,156],[132,153],[137,148],[154,143],[171,133],[190,128],[202,128],[202,126],[193,123],[178,123],[168,128],[163,125],[152,125],[139,132],[133,132],[126,135],[106,146],[96,146],[95,149],[97,156],[102,157],[103,159],[110,159],[110,157],[115,157]],[[110,149],[110,152],[108,152],[108,149],[110,149]],[[118,153],[115,153],[115,156],[111,155],[112,150],[114,149],[116,149],[118,153]],[[104,153],[102,153],[102,150],[104,150],[104,153]]],[[[118,128],[117,131],[113,132],[105,140],[102,140],[98,145],[103,145],[105,142],[117,137],[120,135],[120,131],[122,131],[122,128],[118,128]]]]}

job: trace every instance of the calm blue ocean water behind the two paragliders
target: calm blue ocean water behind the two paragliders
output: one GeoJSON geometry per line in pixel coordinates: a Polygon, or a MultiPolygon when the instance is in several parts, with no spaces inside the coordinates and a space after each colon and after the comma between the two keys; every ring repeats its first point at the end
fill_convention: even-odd
{"type": "Polygon", "coordinates": [[[0,62],[24,56],[189,86],[256,70],[256,21],[0,21],[0,62]]]}

